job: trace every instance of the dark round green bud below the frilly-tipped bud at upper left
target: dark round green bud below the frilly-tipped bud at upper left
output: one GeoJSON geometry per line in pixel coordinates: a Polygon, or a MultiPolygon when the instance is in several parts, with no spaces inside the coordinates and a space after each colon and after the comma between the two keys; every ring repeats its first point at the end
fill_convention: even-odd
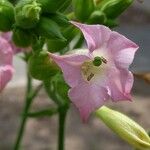
{"type": "Polygon", "coordinates": [[[13,30],[12,40],[18,47],[29,47],[32,43],[31,31],[16,28],[13,30]]]}

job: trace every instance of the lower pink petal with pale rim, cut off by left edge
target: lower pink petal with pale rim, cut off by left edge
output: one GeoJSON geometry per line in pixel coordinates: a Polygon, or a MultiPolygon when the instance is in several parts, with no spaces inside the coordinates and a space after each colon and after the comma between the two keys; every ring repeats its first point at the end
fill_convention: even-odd
{"type": "Polygon", "coordinates": [[[5,88],[13,75],[13,67],[10,65],[0,67],[0,92],[5,88]]]}

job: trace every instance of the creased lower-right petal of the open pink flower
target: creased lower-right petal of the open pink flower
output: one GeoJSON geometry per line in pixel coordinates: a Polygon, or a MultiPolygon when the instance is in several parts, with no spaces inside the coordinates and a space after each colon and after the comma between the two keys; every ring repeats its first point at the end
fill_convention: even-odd
{"type": "Polygon", "coordinates": [[[133,81],[133,75],[130,71],[113,68],[108,75],[108,89],[112,100],[114,102],[122,100],[131,101],[130,92],[133,81]]]}

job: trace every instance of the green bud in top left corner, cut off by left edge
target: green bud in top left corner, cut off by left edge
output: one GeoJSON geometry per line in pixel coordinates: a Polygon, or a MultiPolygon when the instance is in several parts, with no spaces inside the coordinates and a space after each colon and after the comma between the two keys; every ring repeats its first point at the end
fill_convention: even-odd
{"type": "Polygon", "coordinates": [[[14,23],[14,7],[7,0],[0,1],[0,31],[6,32],[12,29],[14,23]]]}

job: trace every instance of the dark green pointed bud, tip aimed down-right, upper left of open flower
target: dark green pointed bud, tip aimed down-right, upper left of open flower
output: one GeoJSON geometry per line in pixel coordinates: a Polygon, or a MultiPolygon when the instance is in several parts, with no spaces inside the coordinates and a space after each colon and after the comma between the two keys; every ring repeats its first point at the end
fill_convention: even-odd
{"type": "Polygon", "coordinates": [[[39,35],[48,39],[59,39],[65,41],[58,24],[47,17],[41,17],[40,22],[36,27],[39,35]]]}

